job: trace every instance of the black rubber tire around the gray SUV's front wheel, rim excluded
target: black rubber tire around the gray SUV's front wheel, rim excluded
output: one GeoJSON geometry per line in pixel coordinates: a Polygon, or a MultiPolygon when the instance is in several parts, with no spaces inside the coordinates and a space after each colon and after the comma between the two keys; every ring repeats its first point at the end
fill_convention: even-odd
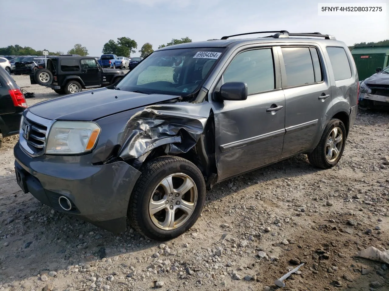
{"type": "Polygon", "coordinates": [[[163,156],[153,159],[145,163],[140,171],[142,174],[135,184],[128,205],[128,216],[131,225],[144,236],[157,241],[172,239],[192,227],[200,217],[205,203],[205,182],[201,171],[190,161],[176,156],[163,156]],[[182,225],[175,229],[164,230],[152,222],[149,215],[149,203],[159,182],[168,175],[175,173],[183,173],[193,180],[197,188],[197,201],[193,212],[182,225]]]}

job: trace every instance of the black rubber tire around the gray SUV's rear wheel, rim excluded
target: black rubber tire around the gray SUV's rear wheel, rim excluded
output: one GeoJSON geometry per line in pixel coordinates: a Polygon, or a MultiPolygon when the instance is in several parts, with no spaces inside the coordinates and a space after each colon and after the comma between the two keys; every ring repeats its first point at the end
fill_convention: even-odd
{"type": "Polygon", "coordinates": [[[343,124],[343,122],[336,118],[331,119],[326,125],[326,128],[324,128],[324,132],[321,136],[319,144],[317,144],[313,152],[308,154],[308,161],[310,162],[311,165],[318,168],[322,168],[322,169],[332,168],[339,162],[340,158],[342,158],[343,150],[346,144],[346,138],[347,138],[346,127],[343,124]],[[326,151],[328,150],[326,144],[327,144],[327,140],[329,139],[329,135],[334,128],[339,128],[342,132],[342,145],[341,148],[338,149],[339,151],[338,156],[336,157],[336,159],[332,161],[326,158],[326,151]]]}

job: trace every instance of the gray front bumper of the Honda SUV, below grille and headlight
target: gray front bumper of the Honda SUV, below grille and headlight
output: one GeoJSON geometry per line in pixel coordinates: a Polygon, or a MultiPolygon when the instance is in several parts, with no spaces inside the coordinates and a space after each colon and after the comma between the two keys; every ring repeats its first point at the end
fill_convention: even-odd
{"type": "Polygon", "coordinates": [[[85,156],[32,158],[19,142],[14,156],[16,173],[24,176],[26,192],[41,203],[115,233],[126,230],[130,194],[140,175],[135,168],[123,161],[92,165],[83,162],[85,156]],[[71,201],[71,210],[61,208],[60,196],[71,201]]]}

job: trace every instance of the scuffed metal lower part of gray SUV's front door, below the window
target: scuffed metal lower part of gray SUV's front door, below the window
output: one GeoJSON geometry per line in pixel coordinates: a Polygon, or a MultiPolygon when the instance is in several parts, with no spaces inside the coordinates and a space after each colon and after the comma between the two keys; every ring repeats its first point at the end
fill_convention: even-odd
{"type": "Polygon", "coordinates": [[[277,161],[285,134],[284,108],[266,112],[273,104],[285,106],[282,90],[250,95],[243,101],[216,104],[215,127],[219,179],[277,161]]]}

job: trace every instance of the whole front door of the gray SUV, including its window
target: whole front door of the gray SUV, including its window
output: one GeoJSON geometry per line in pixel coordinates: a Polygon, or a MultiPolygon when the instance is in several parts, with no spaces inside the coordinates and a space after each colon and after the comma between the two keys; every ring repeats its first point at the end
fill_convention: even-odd
{"type": "Polygon", "coordinates": [[[277,161],[281,156],[285,96],[279,88],[278,55],[273,54],[272,48],[241,52],[219,81],[245,82],[249,93],[247,100],[212,101],[219,181],[277,161]]]}

